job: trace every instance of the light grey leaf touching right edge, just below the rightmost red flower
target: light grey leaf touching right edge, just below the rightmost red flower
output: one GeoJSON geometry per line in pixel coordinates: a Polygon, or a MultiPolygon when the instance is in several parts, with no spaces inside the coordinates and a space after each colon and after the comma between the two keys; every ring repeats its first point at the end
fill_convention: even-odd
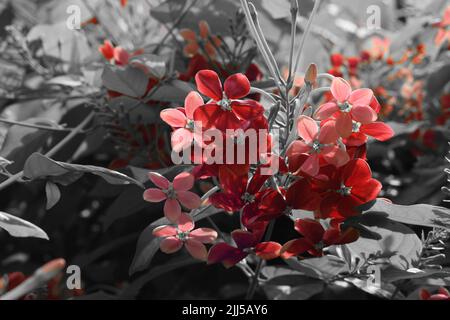
{"type": "Polygon", "coordinates": [[[361,209],[364,214],[378,213],[401,223],[450,229],[450,210],[443,207],[429,204],[403,206],[376,199],[361,209]]]}

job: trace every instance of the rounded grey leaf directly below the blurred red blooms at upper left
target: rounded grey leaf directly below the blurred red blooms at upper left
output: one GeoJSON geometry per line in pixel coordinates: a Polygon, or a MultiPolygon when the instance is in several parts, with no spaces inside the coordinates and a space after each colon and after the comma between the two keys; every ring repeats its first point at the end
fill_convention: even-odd
{"type": "Polygon", "coordinates": [[[126,96],[140,98],[147,91],[148,77],[139,68],[106,65],[102,74],[103,85],[126,96]]]}

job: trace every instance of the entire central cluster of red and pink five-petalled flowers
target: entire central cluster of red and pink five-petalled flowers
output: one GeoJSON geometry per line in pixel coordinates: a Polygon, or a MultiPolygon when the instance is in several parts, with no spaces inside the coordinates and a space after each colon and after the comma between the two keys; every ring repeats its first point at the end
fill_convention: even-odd
{"type": "MultiPolygon", "coordinates": [[[[147,201],[166,200],[164,212],[174,224],[154,231],[154,235],[165,237],[163,252],[177,251],[185,243],[192,256],[204,258],[204,246],[197,244],[194,249],[186,240],[191,239],[188,234],[193,239],[197,236],[191,231],[193,224],[184,227],[180,222],[188,219],[180,203],[187,209],[200,206],[198,196],[187,191],[193,187],[194,176],[213,178],[217,190],[211,192],[208,202],[229,213],[239,212],[241,222],[241,228],[231,233],[233,243],[221,239],[212,246],[208,263],[231,267],[248,255],[266,260],[306,253],[320,256],[331,245],[358,238],[358,231],[344,227],[343,222],[358,215],[358,207],[374,200],[381,190],[365,161],[365,144],[368,138],[387,140],[393,136],[389,126],[377,121],[380,108],[372,90],[352,90],[347,81],[334,78],[331,98],[312,117],[300,115],[295,119],[293,130],[298,139],[290,145],[281,141],[286,152],[278,153],[265,109],[249,98],[251,84],[244,74],[233,74],[222,84],[216,72],[201,70],[195,80],[198,92],[188,94],[184,108],[163,110],[161,118],[173,129],[174,152],[192,156],[194,146],[207,152],[202,153],[201,163],[192,173],[178,175],[172,184],[150,173],[150,180],[159,189],[144,193],[147,201]],[[209,139],[210,130],[222,135],[209,139]],[[265,132],[255,140],[258,146],[263,140],[264,148],[249,147],[251,139],[245,135],[249,130],[265,132]],[[217,160],[218,154],[236,160],[239,151],[244,153],[240,163],[210,161],[217,160]],[[251,152],[256,152],[256,157],[250,157],[251,152]],[[293,212],[297,209],[314,212],[315,219],[295,219],[293,212]],[[268,226],[283,216],[293,220],[302,236],[284,245],[267,239],[268,226]]],[[[213,242],[212,231],[207,233],[210,237],[203,243],[213,242]]]]}

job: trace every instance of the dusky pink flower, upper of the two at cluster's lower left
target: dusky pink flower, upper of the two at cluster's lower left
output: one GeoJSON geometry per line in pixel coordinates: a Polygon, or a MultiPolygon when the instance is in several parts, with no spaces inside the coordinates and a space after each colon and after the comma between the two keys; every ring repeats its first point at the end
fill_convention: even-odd
{"type": "Polygon", "coordinates": [[[194,176],[189,172],[182,172],[169,182],[156,172],[148,174],[150,180],[158,188],[149,188],[144,192],[144,200],[148,202],[161,202],[164,204],[164,215],[169,221],[177,222],[181,215],[181,205],[188,209],[196,209],[201,200],[198,195],[188,190],[194,186],[194,176]]]}

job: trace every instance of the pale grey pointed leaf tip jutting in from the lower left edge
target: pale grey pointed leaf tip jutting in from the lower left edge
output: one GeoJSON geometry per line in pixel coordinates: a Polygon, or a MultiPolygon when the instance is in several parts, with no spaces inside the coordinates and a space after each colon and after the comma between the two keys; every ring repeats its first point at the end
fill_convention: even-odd
{"type": "Polygon", "coordinates": [[[5,229],[10,235],[18,238],[40,238],[48,240],[48,235],[44,230],[35,226],[31,222],[0,212],[0,228],[5,229]]]}

